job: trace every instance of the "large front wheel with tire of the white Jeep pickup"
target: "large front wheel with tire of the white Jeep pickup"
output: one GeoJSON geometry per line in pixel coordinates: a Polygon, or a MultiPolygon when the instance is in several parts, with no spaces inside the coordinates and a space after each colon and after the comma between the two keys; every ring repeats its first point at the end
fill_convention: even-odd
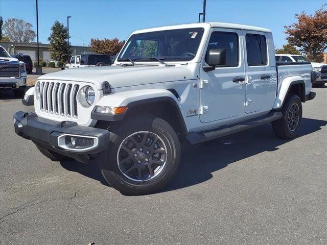
{"type": "Polygon", "coordinates": [[[146,115],[110,126],[110,141],[99,156],[106,181],[123,194],[139,195],[163,188],[174,176],[180,143],[161,118],[146,115]]]}

